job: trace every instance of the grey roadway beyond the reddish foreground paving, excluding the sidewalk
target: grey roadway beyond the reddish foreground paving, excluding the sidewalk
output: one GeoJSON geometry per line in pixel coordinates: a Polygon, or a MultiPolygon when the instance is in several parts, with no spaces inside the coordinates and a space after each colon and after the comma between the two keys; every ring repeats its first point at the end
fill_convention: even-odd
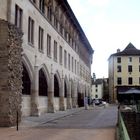
{"type": "Polygon", "coordinates": [[[95,110],[82,110],[70,116],[44,123],[41,126],[49,128],[111,128],[116,124],[116,107],[97,107],[95,110]]]}

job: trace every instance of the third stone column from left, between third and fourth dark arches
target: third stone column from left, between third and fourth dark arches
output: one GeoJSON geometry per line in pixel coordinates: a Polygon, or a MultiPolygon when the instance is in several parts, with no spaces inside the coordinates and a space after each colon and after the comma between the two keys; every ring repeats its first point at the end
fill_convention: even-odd
{"type": "Polygon", "coordinates": [[[64,111],[66,110],[65,105],[64,105],[64,87],[65,87],[65,82],[64,82],[64,75],[62,74],[62,85],[60,86],[60,96],[59,96],[59,105],[60,105],[60,110],[64,111]]]}

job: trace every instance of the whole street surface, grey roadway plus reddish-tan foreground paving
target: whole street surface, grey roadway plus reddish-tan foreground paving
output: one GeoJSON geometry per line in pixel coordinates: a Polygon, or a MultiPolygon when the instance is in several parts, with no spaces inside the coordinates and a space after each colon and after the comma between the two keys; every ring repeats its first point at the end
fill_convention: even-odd
{"type": "Polygon", "coordinates": [[[117,107],[96,107],[38,124],[1,129],[0,140],[114,140],[117,107]],[[2,138],[2,139],[1,139],[2,138]]]}

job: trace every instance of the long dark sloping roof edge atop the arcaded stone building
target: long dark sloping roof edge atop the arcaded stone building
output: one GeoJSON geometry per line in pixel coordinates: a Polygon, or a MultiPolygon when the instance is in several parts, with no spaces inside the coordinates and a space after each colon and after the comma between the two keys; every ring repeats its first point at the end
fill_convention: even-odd
{"type": "Polygon", "coordinates": [[[86,45],[86,47],[87,47],[87,49],[89,50],[89,52],[90,52],[91,54],[93,54],[93,53],[94,53],[94,50],[92,49],[92,47],[91,47],[91,45],[90,45],[90,43],[89,43],[89,41],[88,41],[88,39],[87,39],[87,37],[86,37],[84,31],[82,30],[82,28],[81,28],[81,26],[80,26],[80,24],[79,24],[77,18],[75,17],[75,15],[74,15],[74,13],[73,13],[71,7],[69,6],[67,0],[58,0],[58,1],[59,1],[59,2],[61,3],[61,5],[64,7],[64,9],[66,10],[67,15],[69,16],[69,18],[72,20],[72,23],[75,25],[75,27],[76,27],[77,30],[79,31],[81,40],[82,40],[83,43],[86,45]]]}

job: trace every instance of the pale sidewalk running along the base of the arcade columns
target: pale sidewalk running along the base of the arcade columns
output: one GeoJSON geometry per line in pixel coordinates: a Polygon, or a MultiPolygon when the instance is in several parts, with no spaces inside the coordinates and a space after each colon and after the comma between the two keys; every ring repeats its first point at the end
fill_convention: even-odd
{"type": "Polygon", "coordinates": [[[41,124],[48,123],[50,121],[72,115],[72,114],[79,112],[83,109],[85,109],[85,108],[84,107],[72,108],[72,109],[68,109],[65,111],[57,111],[55,113],[46,113],[46,114],[43,114],[43,115],[38,116],[38,117],[31,117],[31,116],[23,117],[22,121],[19,125],[19,128],[39,126],[41,124]]]}

